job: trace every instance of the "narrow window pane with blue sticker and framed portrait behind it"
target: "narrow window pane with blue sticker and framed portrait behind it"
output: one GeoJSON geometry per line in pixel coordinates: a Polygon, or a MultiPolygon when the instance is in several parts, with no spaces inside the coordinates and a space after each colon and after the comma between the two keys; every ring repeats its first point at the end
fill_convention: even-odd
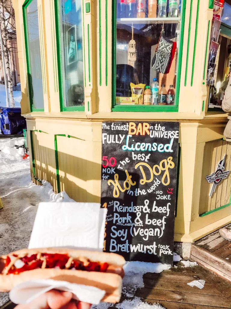
{"type": "Polygon", "coordinates": [[[64,106],[84,105],[83,40],[80,0],[60,0],[64,106]]]}

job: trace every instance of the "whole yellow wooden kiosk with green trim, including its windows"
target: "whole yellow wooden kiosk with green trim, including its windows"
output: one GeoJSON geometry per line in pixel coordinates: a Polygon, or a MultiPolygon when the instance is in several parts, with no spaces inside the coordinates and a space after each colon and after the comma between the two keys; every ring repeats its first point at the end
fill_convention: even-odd
{"type": "MultiPolygon", "coordinates": [[[[35,183],[44,179],[75,201],[99,202],[102,122],[179,121],[175,241],[191,243],[231,222],[231,176],[212,198],[205,179],[225,154],[231,168],[231,144],[223,139],[227,114],[209,106],[206,83],[213,0],[182,0],[180,16],[143,19],[121,17],[116,0],[13,0],[13,6],[35,183]],[[167,75],[151,65],[162,26],[177,46],[167,75]],[[134,64],[127,58],[132,27],[134,64]],[[174,86],[174,105],[123,104],[130,82],[151,85],[153,78],[167,91],[174,86]]],[[[221,28],[226,53],[231,27],[222,22],[221,28]]],[[[221,54],[217,59],[226,61],[221,54]]]]}

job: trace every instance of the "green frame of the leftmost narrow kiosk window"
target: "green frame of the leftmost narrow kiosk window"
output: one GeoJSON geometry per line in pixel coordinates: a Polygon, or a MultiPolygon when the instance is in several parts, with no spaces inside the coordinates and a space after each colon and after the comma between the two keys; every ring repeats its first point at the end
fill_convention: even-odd
{"type": "MultiPolygon", "coordinates": [[[[28,80],[28,87],[29,87],[29,100],[30,100],[30,112],[44,112],[43,108],[34,108],[33,107],[33,87],[32,87],[32,80],[31,80],[31,64],[30,64],[30,57],[29,57],[29,37],[28,37],[28,24],[27,24],[27,18],[26,18],[26,9],[30,5],[30,3],[34,0],[26,0],[22,5],[22,15],[23,15],[23,27],[24,27],[24,38],[25,38],[25,51],[26,51],[26,69],[27,69],[27,80],[28,80]]],[[[39,11],[38,11],[39,13],[39,11]]],[[[41,15],[40,15],[41,17],[41,15]]],[[[39,17],[38,17],[39,18],[39,17]]],[[[40,20],[41,22],[41,20],[40,20]]],[[[41,42],[40,42],[41,44],[41,42]]],[[[42,57],[42,55],[41,55],[42,57]]],[[[42,58],[41,58],[42,62],[42,58]]],[[[42,64],[43,65],[43,64],[42,64]]],[[[45,72],[44,72],[45,74],[45,72]]],[[[43,89],[44,94],[44,89],[43,89]]]]}

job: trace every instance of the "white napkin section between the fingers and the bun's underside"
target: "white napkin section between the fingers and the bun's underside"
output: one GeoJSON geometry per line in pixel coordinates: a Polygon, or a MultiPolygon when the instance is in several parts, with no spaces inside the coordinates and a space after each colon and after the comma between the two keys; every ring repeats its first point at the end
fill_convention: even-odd
{"type": "Polygon", "coordinates": [[[34,298],[52,289],[73,293],[73,299],[98,305],[105,291],[94,286],[56,281],[52,279],[31,280],[18,284],[10,291],[10,300],[15,304],[30,303],[34,298]]]}

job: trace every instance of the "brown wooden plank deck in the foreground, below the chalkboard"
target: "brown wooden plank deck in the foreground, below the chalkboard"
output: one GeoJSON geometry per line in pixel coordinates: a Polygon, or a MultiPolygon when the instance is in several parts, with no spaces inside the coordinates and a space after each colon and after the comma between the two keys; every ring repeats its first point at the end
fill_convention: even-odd
{"type": "MultiPolygon", "coordinates": [[[[135,296],[147,303],[159,303],[166,309],[231,308],[230,282],[202,266],[185,268],[181,263],[176,266],[160,274],[144,274],[144,288],[138,289],[135,296]],[[202,290],[187,285],[199,279],[205,280],[202,290]]],[[[121,302],[124,299],[122,297],[121,302]]],[[[4,307],[13,308],[12,305],[4,307]]]]}

